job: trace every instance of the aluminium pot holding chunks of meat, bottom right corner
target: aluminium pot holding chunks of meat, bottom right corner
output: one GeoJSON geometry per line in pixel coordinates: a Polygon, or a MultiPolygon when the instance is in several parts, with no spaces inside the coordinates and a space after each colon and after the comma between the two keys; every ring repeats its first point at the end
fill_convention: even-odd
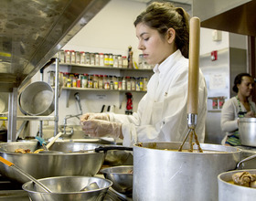
{"type": "Polygon", "coordinates": [[[232,175],[244,171],[249,172],[250,174],[256,174],[256,170],[251,169],[229,171],[218,175],[219,201],[247,201],[253,200],[254,197],[256,197],[256,188],[229,183],[232,181],[232,175]]]}

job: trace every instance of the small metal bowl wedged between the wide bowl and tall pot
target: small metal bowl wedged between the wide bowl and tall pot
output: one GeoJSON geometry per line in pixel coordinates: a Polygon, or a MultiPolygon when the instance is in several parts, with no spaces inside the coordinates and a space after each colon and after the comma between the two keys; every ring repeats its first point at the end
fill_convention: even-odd
{"type": "Polygon", "coordinates": [[[112,181],[112,188],[123,195],[133,193],[133,165],[115,166],[101,169],[106,179],[112,181]]]}

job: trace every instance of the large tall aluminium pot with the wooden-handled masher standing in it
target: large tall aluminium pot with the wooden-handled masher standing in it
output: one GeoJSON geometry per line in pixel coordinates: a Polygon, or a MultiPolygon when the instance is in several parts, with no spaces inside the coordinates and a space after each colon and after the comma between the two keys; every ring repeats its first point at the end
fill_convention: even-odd
{"type": "MultiPolygon", "coordinates": [[[[180,143],[133,145],[133,200],[218,200],[220,173],[234,170],[241,150],[201,143],[204,153],[176,152],[180,143]],[[173,151],[171,151],[173,150],[173,151]]],[[[184,150],[189,144],[184,144],[184,150]]],[[[197,150],[197,145],[194,146],[197,150]]]]}

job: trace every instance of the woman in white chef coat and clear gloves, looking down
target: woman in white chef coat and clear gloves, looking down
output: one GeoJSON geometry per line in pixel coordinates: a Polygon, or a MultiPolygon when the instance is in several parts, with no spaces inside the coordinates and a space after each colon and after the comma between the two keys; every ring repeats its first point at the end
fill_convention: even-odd
{"type": "MultiPolygon", "coordinates": [[[[122,138],[123,145],[137,142],[182,142],[187,133],[187,80],[189,24],[187,12],[170,3],[152,3],[134,21],[138,48],[155,74],[133,115],[86,113],[82,129],[94,137],[122,138]]],[[[207,87],[199,71],[196,133],[204,142],[207,87]]]]}

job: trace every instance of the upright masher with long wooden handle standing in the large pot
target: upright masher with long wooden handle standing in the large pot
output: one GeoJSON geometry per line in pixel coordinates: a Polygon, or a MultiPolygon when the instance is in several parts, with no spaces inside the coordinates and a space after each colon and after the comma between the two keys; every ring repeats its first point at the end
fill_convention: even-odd
{"type": "Polygon", "coordinates": [[[188,132],[181,143],[178,151],[182,151],[184,143],[189,135],[189,151],[193,152],[193,136],[197,143],[198,152],[202,152],[195,132],[197,126],[198,108],[198,75],[199,75],[199,43],[200,43],[200,19],[196,16],[190,19],[189,28],[189,65],[188,65],[188,86],[187,86],[187,126],[188,132]]]}

